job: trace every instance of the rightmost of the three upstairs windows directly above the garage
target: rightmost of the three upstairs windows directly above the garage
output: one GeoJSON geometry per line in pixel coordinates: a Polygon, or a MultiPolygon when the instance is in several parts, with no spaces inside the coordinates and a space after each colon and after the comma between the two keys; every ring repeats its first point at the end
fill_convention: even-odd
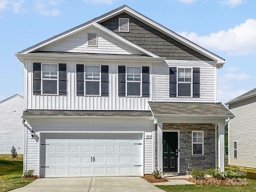
{"type": "Polygon", "coordinates": [[[141,67],[127,67],[127,96],[141,96],[141,67]]]}

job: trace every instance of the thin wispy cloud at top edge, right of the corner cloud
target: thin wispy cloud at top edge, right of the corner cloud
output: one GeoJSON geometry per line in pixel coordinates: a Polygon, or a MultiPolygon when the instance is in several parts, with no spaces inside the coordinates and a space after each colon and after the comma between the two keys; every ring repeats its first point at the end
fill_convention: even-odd
{"type": "Polygon", "coordinates": [[[44,16],[58,16],[61,13],[57,8],[52,8],[52,6],[57,6],[57,2],[54,0],[44,2],[42,2],[42,0],[37,0],[34,3],[34,6],[36,7],[36,10],[44,16]]]}

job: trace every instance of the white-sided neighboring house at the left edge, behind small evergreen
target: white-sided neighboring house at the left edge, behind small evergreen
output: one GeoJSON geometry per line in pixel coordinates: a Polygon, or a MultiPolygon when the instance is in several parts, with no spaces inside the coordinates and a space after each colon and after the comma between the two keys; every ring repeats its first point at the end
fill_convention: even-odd
{"type": "Polygon", "coordinates": [[[23,110],[24,98],[18,94],[0,101],[0,154],[11,155],[12,146],[18,154],[23,154],[23,110]]]}

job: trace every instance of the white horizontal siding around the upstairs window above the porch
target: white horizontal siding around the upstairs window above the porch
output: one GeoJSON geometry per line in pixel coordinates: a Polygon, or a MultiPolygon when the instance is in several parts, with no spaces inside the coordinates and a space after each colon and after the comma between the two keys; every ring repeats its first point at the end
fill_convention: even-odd
{"type": "MultiPolygon", "coordinates": [[[[155,102],[216,102],[217,71],[213,62],[191,61],[187,63],[166,60],[155,65],[155,102]],[[200,98],[170,97],[170,67],[200,68],[200,98]]],[[[177,89],[178,90],[178,89],[177,89]]]]}

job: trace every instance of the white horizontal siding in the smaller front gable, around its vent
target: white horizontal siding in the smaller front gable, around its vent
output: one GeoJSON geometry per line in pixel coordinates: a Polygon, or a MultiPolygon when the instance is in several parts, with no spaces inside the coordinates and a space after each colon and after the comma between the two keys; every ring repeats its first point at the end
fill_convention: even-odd
{"type": "Polygon", "coordinates": [[[82,32],[51,44],[39,51],[54,52],[80,52],[80,53],[100,53],[100,54],[142,54],[134,48],[112,38],[104,32],[90,27],[82,32]],[[87,34],[96,33],[98,39],[97,46],[87,46],[87,34]]]}

